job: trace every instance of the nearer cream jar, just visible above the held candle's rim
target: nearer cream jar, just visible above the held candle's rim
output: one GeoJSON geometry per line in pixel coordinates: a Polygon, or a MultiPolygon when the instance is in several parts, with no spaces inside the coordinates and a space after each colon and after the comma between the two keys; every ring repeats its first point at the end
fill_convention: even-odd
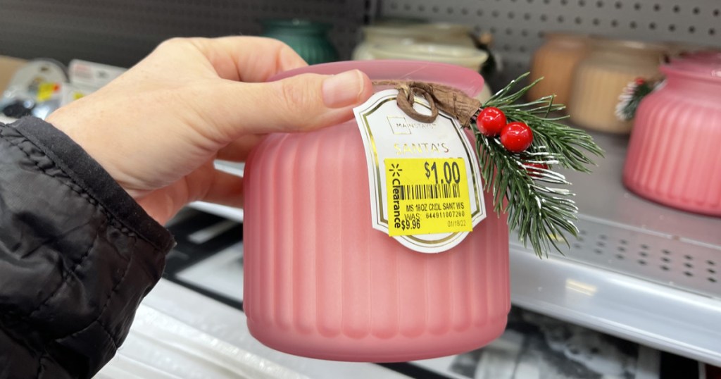
{"type": "MultiPolygon", "coordinates": [[[[481,71],[488,60],[488,53],[477,48],[465,46],[441,45],[438,43],[378,44],[368,48],[375,59],[407,59],[411,61],[430,61],[455,64],[474,71],[481,71]]],[[[483,83],[476,98],[481,103],[490,99],[492,93],[487,82],[483,83]]]]}

